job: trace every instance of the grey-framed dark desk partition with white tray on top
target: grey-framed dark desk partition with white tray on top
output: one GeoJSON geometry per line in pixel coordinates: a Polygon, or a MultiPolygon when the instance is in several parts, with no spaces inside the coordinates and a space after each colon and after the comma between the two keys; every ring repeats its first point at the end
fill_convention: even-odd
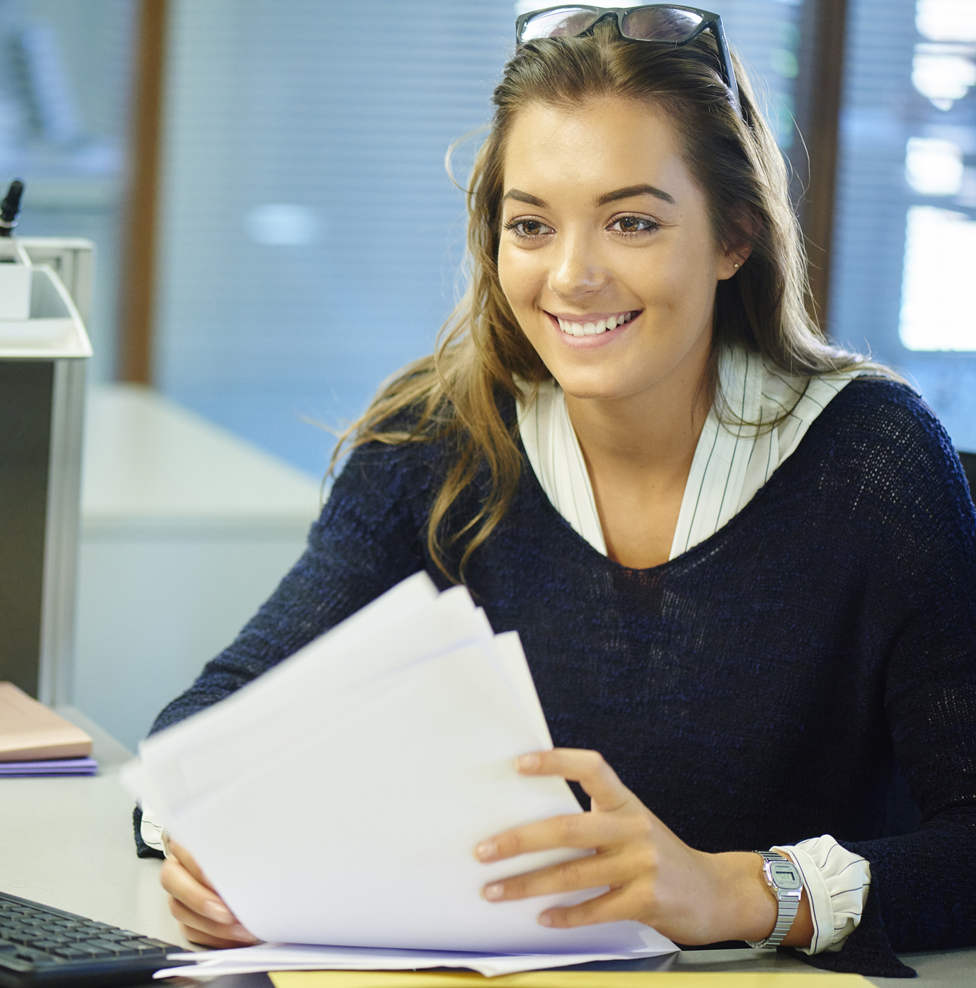
{"type": "Polygon", "coordinates": [[[0,240],[0,680],[46,703],[71,692],[92,253],[0,240]]]}

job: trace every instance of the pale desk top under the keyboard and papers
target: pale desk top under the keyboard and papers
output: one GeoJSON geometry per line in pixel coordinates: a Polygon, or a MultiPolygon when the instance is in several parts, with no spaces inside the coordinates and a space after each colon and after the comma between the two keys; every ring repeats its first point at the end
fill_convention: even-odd
{"type": "MultiPolygon", "coordinates": [[[[118,779],[120,765],[131,754],[80,711],[64,707],[59,712],[92,735],[102,771],[87,779],[0,780],[0,890],[189,947],[159,887],[162,863],[135,857],[132,800],[118,779]]],[[[870,980],[915,988],[976,985],[976,948],[905,954],[902,959],[919,972],[917,980],[870,980]]],[[[688,950],[669,958],[667,967],[796,971],[811,977],[820,973],[792,957],[753,950],[688,950]]],[[[210,982],[210,988],[270,985],[264,975],[210,982]]]]}

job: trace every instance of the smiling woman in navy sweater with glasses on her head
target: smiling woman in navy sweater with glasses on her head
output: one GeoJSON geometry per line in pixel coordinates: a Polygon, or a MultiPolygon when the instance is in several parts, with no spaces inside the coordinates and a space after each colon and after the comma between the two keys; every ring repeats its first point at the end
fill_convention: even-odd
{"type": "MultiPolygon", "coordinates": [[[[519,30],[437,354],[350,430],[306,553],[154,729],[426,569],[519,630],[557,745],[520,770],[590,800],[473,849],[595,852],[486,898],[607,885],[539,921],[871,974],[976,943],[976,525],[944,431],[806,316],[716,18],[519,30]]],[[[163,884],[191,940],[252,942],[186,850],[163,884]]]]}

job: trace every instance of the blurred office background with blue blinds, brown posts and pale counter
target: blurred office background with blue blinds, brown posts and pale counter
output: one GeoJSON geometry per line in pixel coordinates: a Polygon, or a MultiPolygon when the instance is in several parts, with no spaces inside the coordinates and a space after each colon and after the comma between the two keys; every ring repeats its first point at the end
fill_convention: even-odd
{"type": "MultiPolygon", "coordinates": [[[[300,550],[315,423],[431,350],[463,247],[445,151],[535,6],[0,0],[0,182],[27,182],[21,232],[98,245],[76,689],[126,743],[300,550]]],[[[710,7],[796,173],[822,322],[976,450],[976,0],[710,7]]]]}

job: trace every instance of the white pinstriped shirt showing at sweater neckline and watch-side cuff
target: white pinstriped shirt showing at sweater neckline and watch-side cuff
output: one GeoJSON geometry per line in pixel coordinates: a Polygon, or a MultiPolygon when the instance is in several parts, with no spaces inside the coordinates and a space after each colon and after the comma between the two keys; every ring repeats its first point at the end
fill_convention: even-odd
{"type": "MultiPolygon", "coordinates": [[[[724,351],[718,372],[723,407],[711,409],[698,438],[671,559],[737,515],[799,446],[831,398],[856,375],[827,374],[807,383],[744,350],[724,351]]],[[[528,396],[529,386],[522,387],[528,396]]],[[[590,474],[558,384],[541,384],[535,401],[523,403],[519,430],[532,470],[553,507],[606,555],[590,474]]],[[[806,952],[840,950],[860,922],[870,865],[829,834],[773,850],[791,858],[803,876],[814,929],[806,952]]]]}

